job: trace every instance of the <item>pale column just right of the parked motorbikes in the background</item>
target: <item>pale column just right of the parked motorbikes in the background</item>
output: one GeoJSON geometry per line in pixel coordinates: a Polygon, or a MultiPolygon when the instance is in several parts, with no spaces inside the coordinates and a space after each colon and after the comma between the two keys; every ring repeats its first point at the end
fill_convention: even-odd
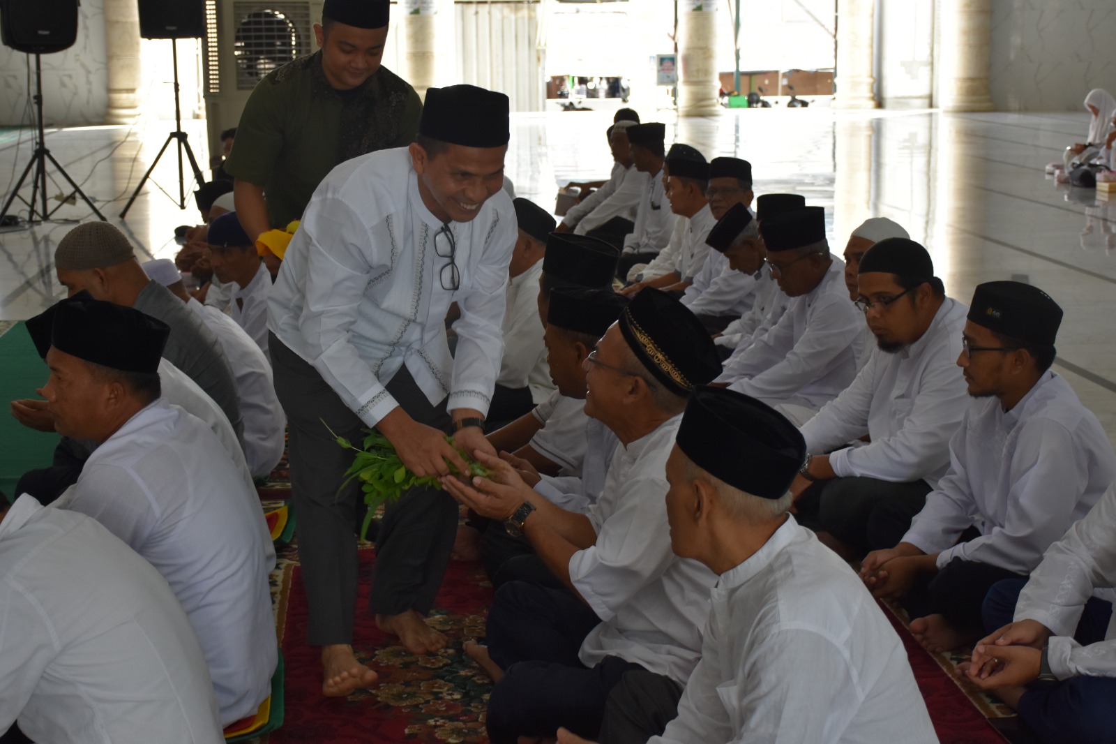
{"type": "Polygon", "coordinates": [[[837,0],[834,108],[875,108],[875,0],[837,0]]]}

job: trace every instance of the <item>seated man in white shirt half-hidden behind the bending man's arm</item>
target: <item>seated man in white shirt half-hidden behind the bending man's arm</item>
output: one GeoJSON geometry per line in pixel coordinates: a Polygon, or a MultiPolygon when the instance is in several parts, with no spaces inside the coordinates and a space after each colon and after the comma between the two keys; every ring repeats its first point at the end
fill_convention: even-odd
{"type": "Polygon", "coordinates": [[[508,299],[503,313],[503,359],[496,379],[489,421],[492,429],[529,413],[545,401],[555,387],[547,370],[539,318],[539,277],[547,252],[547,236],[557,221],[547,210],[528,199],[512,199],[519,238],[508,266],[508,299]]]}

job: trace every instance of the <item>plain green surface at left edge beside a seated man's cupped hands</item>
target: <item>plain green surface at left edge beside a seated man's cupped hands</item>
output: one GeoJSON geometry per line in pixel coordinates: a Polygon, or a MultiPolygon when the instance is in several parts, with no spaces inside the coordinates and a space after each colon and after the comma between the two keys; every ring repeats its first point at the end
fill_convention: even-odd
{"type": "MultiPolygon", "coordinates": [[[[39,359],[31,336],[22,323],[17,323],[0,336],[0,403],[38,398],[36,388],[47,382],[47,365],[39,359]]],[[[0,412],[0,490],[15,499],[16,481],[32,468],[50,465],[58,445],[58,435],[28,429],[10,410],[0,412]]]]}

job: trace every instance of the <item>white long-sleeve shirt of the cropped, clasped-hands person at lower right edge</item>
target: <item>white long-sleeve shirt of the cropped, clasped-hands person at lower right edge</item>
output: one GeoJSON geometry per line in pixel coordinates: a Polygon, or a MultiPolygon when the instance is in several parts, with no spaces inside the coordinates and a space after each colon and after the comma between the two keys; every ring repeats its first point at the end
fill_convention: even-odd
{"type": "Polygon", "coordinates": [[[1037,620],[1054,631],[1047,659],[1059,679],[1116,677],[1116,624],[1103,641],[1081,647],[1077,621],[1097,589],[1116,588],[1116,486],[1050,545],[1016,603],[1016,622],[1037,620]]]}

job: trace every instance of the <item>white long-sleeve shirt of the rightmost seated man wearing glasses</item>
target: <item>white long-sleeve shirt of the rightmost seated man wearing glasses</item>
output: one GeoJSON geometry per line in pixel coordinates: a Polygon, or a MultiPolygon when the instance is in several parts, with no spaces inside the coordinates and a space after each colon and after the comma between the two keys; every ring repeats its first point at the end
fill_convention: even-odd
{"type": "Polygon", "coordinates": [[[1097,417],[1048,371],[1010,411],[994,397],[970,402],[950,440],[950,470],[903,542],[939,553],[939,567],[960,557],[1030,573],[1114,478],[1097,417]],[[954,545],[970,525],[980,537],[954,545]]]}

